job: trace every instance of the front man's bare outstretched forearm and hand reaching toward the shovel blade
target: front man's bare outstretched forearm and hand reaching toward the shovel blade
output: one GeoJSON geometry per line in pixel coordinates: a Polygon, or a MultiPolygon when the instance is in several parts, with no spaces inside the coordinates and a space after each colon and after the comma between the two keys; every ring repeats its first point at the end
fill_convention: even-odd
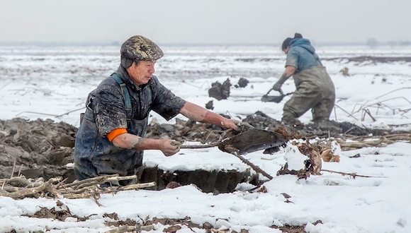
{"type": "Polygon", "coordinates": [[[183,114],[184,117],[187,117],[193,121],[223,126],[226,129],[238,129],[236,124],[238,121],[227,119],[220,114],[208,111],[197,104],[193,104],[192,102],[186,102],[184,107],[181,108],[180,113],[183,114]]]}

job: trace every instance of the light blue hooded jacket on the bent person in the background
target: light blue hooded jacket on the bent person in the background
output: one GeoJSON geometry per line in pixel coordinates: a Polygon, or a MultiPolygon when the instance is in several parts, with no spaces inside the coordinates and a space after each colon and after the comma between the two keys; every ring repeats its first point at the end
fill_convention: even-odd
{"type": "Polygon", "coordinates": [[[288,47],[286,66],[295,66],[295,73],[299,73],[313,66],[322,66],[322,63],[310,40],[295,38],[288,47]]]}

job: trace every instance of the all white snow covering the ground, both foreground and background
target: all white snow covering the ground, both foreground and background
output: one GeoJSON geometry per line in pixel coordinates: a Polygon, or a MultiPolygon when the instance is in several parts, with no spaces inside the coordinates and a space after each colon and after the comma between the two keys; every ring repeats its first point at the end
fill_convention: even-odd
{"type": "MultiPolygon", "coordinates": [[[[214,82],[232,83],[227,100],[213,100],[214,112],[242,119],[261,111],[281,119],[283,103],[261,102],[261,95],[281,76],[285,54],[278,47],[163,47],[156,75],[164,85],[184,99],[205,106],[212,97],[214,82]],[[235,88],[247,78],[245,88],[235,88]]],[[[349,61],[355,56],[410,57],[410,47],[369,49],[364,47],[318,47],[337,89],[333,120],[366,127],[411,130],[411,62],[349,61]],[[349,68],[349,76],[340,72],[349,68]]],[[[118,47],[0,47],[0,119],[53,119],[79,126],[84,101],[101,79],[116,71],[118,47]]],[[[292,92],[292,78],[283,91],[292,92]]],[[[271,92],[272,95],[276,93],[271,92]]],[[[152,114],[161,122],[157,114],[152,114]]],[[[300,117],[310,122],[311,114],[300,117]]],[[[171,121],[172,123],[172,121],[171,121]]],[[[340,162],[324,162],[323,169],[356,172],[370,177],[351,177],[322,172],[307,180],[295,176],[276,177],[286,157],[297,155],[291,147],[274,155],[254,152],[245,155],[274,177],[267,193],[249,193],[240,184],[235,193],[213,196],[193,186],[162,191],[121,191],[90,199],[60,199],[78,216],[95,214],[85,222],[59,222],[21,215],[41,207],[58,208],[57,200],[0,197],[0,232],[104,232],[104,213],[120,219],[141,221],[147,217],[191,217],[193,222],[210,222],[221,229],[240,232],[281,232],[276,225],[307,224],[307,232],[411,232],[411,144],[408,141],[385,148],[362,148],[341,152],[340,162]],[[359,157],[352,157],[360,155],[359,157]],[[283,194],[291,196],[285,202],[283,194]],[[321,220],[322,224],[312,222],[321,220]]],[[[181,150],[172,157],[147,151],[145,163],[161,169],[245,169],[236,157],[217,148],[181,150]]],[[[156,225],[162,232],[165,226],[156,225]]],[[[183,226],[178,232],[202,232],[183,226]]]]}

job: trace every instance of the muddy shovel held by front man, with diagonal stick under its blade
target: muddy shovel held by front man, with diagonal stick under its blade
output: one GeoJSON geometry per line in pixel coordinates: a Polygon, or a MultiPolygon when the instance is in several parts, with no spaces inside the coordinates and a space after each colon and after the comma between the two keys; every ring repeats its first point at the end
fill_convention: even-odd
{"type": "Polygon", "coordinates": [[[286,144],[287,141],[287,138],[281,133],[249,127],[244,131],[228,129],[223,133],[220,140],[215,143],[204,145],[179,145],[179,147],[181,149],[196,149],[217,146],[221,151],[235,155],[242,162],[252,167],[256,172],[263,174],[264,177],[273,179],[273,177],[252,164],[252,162],[249,162],[249,160],[244,159],[241,155],[252,153],[257,150],[279,147],[286,144]]]}

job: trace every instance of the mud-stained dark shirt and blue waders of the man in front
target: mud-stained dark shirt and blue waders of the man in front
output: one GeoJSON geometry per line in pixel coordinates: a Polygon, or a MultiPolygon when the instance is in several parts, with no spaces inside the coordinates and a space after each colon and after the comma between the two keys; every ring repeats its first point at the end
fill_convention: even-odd
{"type": "Polygon", "coordinates": [[[146,85],[138,87],[122,66],[116,73],[130,93],[131,109],[125,109],[123,91],[112,77],[104,79],[89,93],[74,148],[77,179],[104,174],[135,174],[142,166],[143,152],[118,148],[108,141],[107,134],[113,129],[126,128],[128,133],[144,137],[151,110],[169,120],[179,114],[186,103],[159,83],[155,76],[146,85]]]}

